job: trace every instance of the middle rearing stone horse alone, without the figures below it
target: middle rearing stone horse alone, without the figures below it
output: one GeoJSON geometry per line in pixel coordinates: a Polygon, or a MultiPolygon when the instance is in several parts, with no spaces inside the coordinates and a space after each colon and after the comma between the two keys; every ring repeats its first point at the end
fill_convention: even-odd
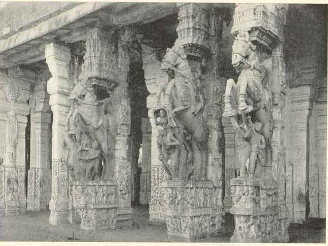
{"type": "Polygon", "coordinates": [[[191,135],[193,165],[196,168],[194,178],[205,180],[204,144],[207,132],[200,114],[202,102],[196,100],[195,80],[187,55],[181,46],[175,44],[173,48],[166,50],[161,69],[172,79],[167,85],[162,85],[157,96],[164,93],[165,107],[171,110],[177,124],[183,125],[191,135]]]}

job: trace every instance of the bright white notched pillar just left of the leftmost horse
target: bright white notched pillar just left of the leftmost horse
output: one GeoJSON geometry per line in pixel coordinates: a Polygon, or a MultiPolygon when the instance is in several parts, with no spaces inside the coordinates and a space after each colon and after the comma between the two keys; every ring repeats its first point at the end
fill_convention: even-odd
{"type": "Polygon", "coordinates": [[[49,222],[55,225],[72,221],[69,170],[65,161],[61,161],[64,156],[61,144],[65,134],[66,117],[70,110],[69,94],[73,88],[73,82],[69,78],[71,51],[65,45],[50,43],[46,46],[45,58],[52,76],[47,84],[47,91],[50,95],[49,104],[53,114],[51,141],[52,193],[49,203],[49,222]]]}

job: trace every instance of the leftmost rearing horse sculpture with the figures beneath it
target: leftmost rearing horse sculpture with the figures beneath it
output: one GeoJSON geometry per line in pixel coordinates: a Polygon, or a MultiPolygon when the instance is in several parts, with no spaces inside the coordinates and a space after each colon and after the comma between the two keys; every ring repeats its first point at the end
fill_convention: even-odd
{"type": "Polygon", "coordinates": [[[71,109],[66,118],[65,143],[68,147],[67,165],[73,169],[73,178],[83,180],[112,180],[114,163],[109,146],[113,140],[107,115],[110,91],[98,100],[96,83],[81,80],[73,88],[71,109]]]}

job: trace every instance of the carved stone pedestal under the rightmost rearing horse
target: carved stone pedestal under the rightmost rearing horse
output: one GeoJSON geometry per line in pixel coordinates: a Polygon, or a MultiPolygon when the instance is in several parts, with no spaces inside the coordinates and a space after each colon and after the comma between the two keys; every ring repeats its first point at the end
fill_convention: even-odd
{"type": "Polygon", "coordinates": [[[278,242],[277,183],[236,178],[230,181],[235,229],[230,242],[278,242]]]}

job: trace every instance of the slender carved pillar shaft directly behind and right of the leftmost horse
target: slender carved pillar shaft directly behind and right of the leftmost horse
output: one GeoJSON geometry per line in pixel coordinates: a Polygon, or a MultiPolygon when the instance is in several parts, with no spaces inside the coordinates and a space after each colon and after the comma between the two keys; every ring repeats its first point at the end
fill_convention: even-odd
{"type": "Polygon", "coordinates": [[[130,226],[132,224],[133,209],[131,207],[131,160],[130,160],[130,125],[131,109],[128,95],[129,51],[128,42],[131,38],[129,29],[120,30],[118,40],[118,86],[112,95],[113,108],[115,108],[117,126],[114,147],[115,173],[118,181],[118,209],[117,226],[130,226]]]}

